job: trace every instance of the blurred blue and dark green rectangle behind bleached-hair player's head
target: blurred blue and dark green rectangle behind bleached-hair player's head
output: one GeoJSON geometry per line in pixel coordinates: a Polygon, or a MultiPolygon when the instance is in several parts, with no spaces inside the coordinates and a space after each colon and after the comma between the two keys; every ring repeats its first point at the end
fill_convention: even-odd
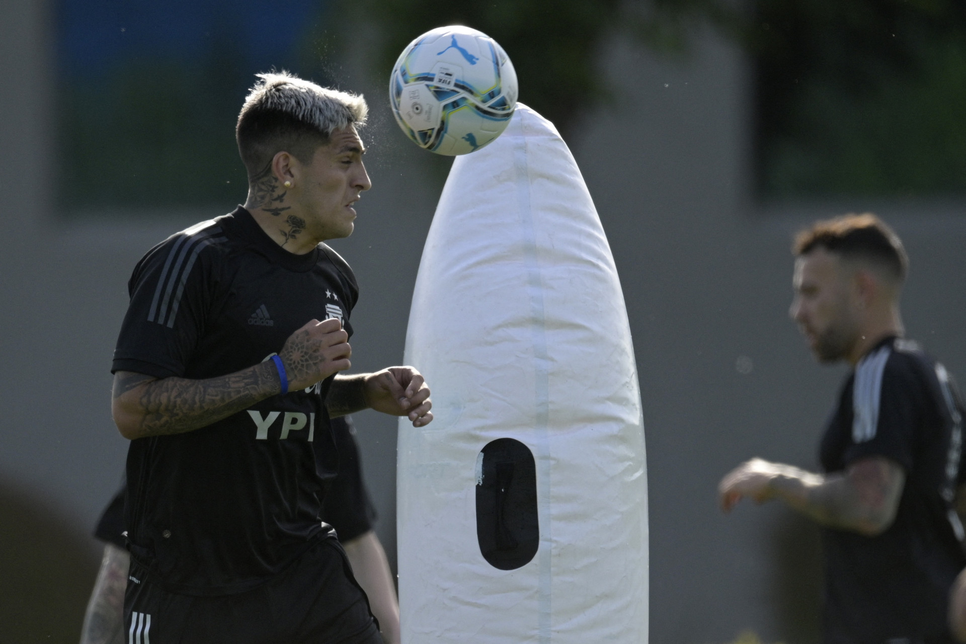
{"type": "Polygon", "coordinates": [[[306,55],[326,0],[58,0],[61,211],[230,210],[244,200],[233,125],[255,73],[327,83],[306,55]],[[105,181],[105,178],[106,181],[105,181]]]}

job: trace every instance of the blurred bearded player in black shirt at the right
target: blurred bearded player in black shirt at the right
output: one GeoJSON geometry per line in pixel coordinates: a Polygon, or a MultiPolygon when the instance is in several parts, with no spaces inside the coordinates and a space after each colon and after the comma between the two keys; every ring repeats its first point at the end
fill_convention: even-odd
{"type": "Polygon", "coordinates": [[[794,252],[792,318],[820,362],[853,367],[821,441],[824,473],[753,459],[722,480],[722,506],[777,498],[823,527],[827,644],[952,642],[962,406],[943,366],[902,338],[905,251],[865,214],[817,223],[794,252]]]}

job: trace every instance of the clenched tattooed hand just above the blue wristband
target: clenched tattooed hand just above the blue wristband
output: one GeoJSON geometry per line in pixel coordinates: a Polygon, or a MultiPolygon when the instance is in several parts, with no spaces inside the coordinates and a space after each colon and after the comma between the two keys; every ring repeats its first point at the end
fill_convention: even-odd
{"type": "Polygon", "coordinates": [[[310,387],[349,369],[352,354],[349,334],[342,329],[342,322],[334,318],[325,322],[307,322],[290,335],[282,350],[278,351],[289,378],[290,391],[310,387]]]}

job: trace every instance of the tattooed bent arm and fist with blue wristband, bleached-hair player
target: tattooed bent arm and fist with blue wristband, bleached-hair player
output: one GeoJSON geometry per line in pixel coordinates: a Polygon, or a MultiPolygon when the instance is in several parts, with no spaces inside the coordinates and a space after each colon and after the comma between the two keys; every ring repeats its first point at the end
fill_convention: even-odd
{"type": "MultiPolygon", "coordinates": [[[[289,389],[309,387],[348,369],[352,354],[348,340],[338,320],[313,320],[299,328],[278,352],[289,389]]],[[[280,392],[281,379],[273,361],[203,380],[120,371],[114,375],[111,414],[125,438],[183,434],[280,392]]]]}

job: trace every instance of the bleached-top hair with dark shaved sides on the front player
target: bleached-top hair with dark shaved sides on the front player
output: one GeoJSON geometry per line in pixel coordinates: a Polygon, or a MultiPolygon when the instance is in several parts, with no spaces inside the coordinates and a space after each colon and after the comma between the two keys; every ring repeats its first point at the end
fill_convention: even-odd
{"type": "Polygon", "coordinates": [[[320,87],[288,71],[256,74],[259,81],[241,106],[235,138],[251,180],[265,173],[275,154],[311,163],[328,137],[345,126],[365,125],[365,98],[320,87]]]}

